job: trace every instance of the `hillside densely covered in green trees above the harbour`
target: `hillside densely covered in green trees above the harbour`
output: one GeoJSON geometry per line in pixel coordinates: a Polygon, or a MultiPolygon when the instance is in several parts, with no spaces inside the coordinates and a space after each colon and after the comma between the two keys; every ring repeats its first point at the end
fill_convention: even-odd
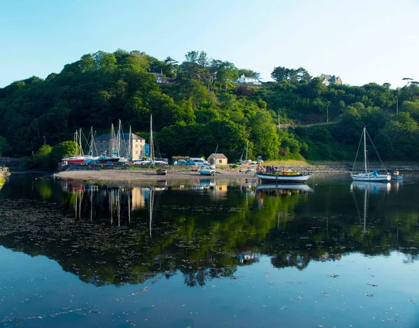
{"type": "Polygon", "coordinates": [[[225,153],[250,157],[350,160],[367,125],[383,159],[419,160],[419,86],[348,86],[311,77],[304,68],[278,66],[262,86],[233,81],[258,72],[189,52],[182,63],[144,52],[86,54],[46,79],[31,77],[0,88],[0,156],[31,155],[44,141],[55,146],[91,126],[125,129],[147,139],[153,114],[159,148],[173,155],[225,153]],[[163,73],[170,83],[156,83],[163,73]],[[396,114],[398,99],[399,114],[396,114]],[[334,124],[277,129],[329,120],[334,124]],[[45,136],[45,139],[44,139],[45,136]]]}

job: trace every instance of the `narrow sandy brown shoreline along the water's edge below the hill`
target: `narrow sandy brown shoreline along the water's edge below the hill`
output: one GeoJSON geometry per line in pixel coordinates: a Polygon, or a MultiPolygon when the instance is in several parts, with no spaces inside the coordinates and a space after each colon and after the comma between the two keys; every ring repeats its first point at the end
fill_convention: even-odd
{"type": "MultiPolygon", "coordinates": [[[[286,170],[300,171],[302,173],[349,173],[351,167],[346,165],[304,165],[304,166],[284,166],[286,170]]],[[[92,182],[135,182],[135,181],[159,181],[159,180],[193,180],[197,178],[211,179],[253,179],[256,171],[248,171],[249,167],[244,166],[237,169],[216,169],[215,175],[200,175],[197,171],[177,169],[172,166],[167,168],[166,175],[157,175],[155,169],[130,170],[121,169],[89,169],[87,167],[77,167],[71,170],[53,173],[52,178],[66,180],[84,180],[92,182]],[[242,169],[242,172],[240,172],[242,169]]],[[[371,169],[375,169],[374,166],[371,169]]],[[[377,168],[378,169],[378,168],[377,168]]],[[[394,166],[388,167],[389,171],[398,169],[401,173],[418,173],[419,166],[394,166]]]]}

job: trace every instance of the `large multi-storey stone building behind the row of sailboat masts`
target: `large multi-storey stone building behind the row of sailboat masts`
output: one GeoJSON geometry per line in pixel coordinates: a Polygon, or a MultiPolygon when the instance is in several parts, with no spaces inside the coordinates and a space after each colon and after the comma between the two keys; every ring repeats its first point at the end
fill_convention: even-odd
{"type": "MultiPolygon", "coordinates": [[[[110,134],[96,136],[94,142],[99,154],[112,155],[110,153],[110,134]]],[[[129,133],[121,134],[121,152],[119,156],[128,158],[128,153],[131,154],[129,159],[133,161],[145,157],[145,139],[131,133],[130,143],[129,133]]]]}

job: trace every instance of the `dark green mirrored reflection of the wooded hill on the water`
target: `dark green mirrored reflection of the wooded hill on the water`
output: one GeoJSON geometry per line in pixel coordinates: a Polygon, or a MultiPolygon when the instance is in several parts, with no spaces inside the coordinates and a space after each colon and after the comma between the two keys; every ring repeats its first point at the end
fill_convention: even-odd
{"type": "Polygon", "coordinates": [[[353,251],[398,249],[406,262],[418,259],[418,213],[408,197],[395,203],[390,192],[368,194],[367,221],[360,221],[354,198],[362,203],[365,192],[347,186],[315,193],[215,186],[67,183],[57,192],[57,184],[43,181],[33,189],[41,196],[3,203],[1,243],[53,258],[96,286],[138,283],[159,273],[168,279],[181,273],[188,286],[204,286],[234,279],[237,266],[254,263],[259,253],[272,256],[275,267],[299,270],[353,251]],[[13,208],[20,209],[14,219],[3,219],[13,208]]]}

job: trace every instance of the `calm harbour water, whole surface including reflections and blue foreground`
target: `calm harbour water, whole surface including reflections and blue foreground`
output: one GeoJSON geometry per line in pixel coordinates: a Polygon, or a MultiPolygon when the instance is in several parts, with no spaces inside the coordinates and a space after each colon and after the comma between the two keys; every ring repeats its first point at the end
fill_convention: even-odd
{"type": "Polygon", "coordinates": [[[419,176],[0,190],[3,327],[419,327],[419,176]]]}

